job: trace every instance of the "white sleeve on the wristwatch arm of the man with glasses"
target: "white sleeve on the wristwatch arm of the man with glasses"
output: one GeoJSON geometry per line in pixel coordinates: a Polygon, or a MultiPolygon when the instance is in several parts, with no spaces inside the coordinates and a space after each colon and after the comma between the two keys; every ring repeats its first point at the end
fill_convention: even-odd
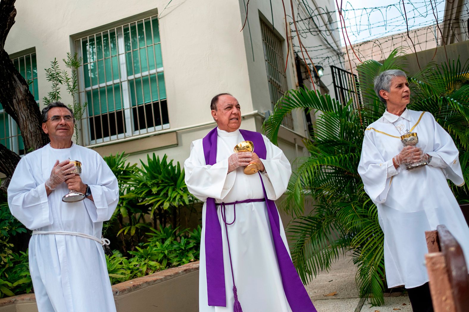
{"type": "Polygon", "coordinates": [[[85,198],[83,200],[86,209],[93,222],[103,222],[109,220],[114,213],[119,202],[119,184],[111,168],[106,162],[96,155],[96,181],[88,184],[91,189],[93,200],[85,198]]]}

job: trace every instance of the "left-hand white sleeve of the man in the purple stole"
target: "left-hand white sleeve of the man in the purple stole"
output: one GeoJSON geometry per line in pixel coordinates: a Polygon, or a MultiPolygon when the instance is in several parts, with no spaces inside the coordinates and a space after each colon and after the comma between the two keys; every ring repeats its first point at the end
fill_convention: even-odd
{"type": "Polygon", "coordinates": [[[201,201],[207,197],[224,198],[233,188],[236,170],[228,173],[228,159],[205,165],[202,139],[192,142],[189,158],[184,161],[187,189],[201,201]]]}

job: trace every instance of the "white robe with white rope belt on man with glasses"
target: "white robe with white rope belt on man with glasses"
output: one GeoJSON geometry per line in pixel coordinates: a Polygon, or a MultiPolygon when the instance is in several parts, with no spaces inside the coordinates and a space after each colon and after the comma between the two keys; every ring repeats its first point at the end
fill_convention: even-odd
{"type": "MultiPolygon", "coordinates": [[[[117,179],[99,154],[73,144],[49,144],[25,155],[8,187],[11,213],[30,230],[81,232],[101,238],[119,200],[117,179]],[[82,162],[81,179],[94,202],[85,198],[64,203],[67,184],[47,196],[45,181],[56,160],[82,162]]],[[[33,235],[29,264],[39,312],[115,312],[103,247],[92,239],[71,235],[33,235]]]]}

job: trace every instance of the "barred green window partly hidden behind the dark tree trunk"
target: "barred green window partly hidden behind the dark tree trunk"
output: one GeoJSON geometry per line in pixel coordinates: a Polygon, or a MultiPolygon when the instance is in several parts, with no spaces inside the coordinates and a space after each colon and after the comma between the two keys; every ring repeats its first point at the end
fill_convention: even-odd
{"type": "MultiPolygon", "coordinates": [[[[39,103],[38,92],[38,66],[36,64],[36,53],[27,54],[12,59],[13,65],[28,82],[30,92],[34,100],[39,103]]],[[[23,137],[15,120],[8,116],[0,103],[0,144],[7,146],[13,152],[24,155],[23,137]]]]}

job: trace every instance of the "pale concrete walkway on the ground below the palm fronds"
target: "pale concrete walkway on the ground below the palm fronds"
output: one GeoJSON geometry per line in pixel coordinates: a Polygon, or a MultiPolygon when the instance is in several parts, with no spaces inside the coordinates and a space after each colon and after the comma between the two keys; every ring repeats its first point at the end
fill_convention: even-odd
{"type": "Polygon", "coordinates": [[[321,272],[306,286],[318,312],[412,312],[408,297],[400,292],[385,294],[383,306],[371,306],[360,299],[355,274],[352,257],[341,257],[329,272],[321,272]]]}

